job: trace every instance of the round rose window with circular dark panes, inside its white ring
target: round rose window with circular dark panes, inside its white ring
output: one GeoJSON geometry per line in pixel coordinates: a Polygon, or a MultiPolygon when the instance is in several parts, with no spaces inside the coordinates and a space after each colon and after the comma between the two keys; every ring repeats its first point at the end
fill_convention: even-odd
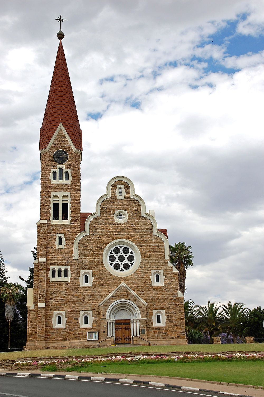
{"type": "Polygon", "coordinates": [[[116,245],[107,256],[108,264],[118,272],[130,270],[135,263],[135,254],[127,245],[116,245]]]}

